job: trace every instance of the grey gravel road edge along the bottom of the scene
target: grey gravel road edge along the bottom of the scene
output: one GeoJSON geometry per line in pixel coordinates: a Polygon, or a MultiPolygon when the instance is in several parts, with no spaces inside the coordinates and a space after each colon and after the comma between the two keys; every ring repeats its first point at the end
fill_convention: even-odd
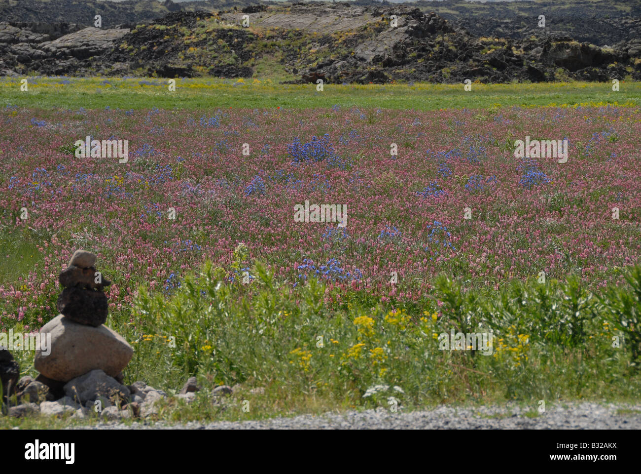
{"type": "Polygon", "coordinates": [[[303,415],[281,417],[260,421],[218,421],[169,425],[168,423],[104,423],[74,429],[206,429],[206,430],[291,430],[291,429],[641,429],[641,405],[615,405],[596,403],[569,403],[547,407],[538,416],[525,416],[531,408],[520,407],[438,407],[431,410],[391,413],[388,410],[365,410],[362,412],[327,413],[320,416],[303,415]],[[622,411],[620,411],[622,410],[622,411]]]}

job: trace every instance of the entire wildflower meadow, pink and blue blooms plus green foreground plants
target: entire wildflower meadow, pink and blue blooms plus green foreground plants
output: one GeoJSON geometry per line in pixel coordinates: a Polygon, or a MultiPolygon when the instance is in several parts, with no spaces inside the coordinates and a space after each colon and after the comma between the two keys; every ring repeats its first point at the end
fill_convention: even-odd
{"type": "Polygon", "coordinates": [[[0,119],[1,330],[55,317],[58,273],[95,252],[107,324],[135,346],[126,381],[265,387],[251,413],[168,417],[640,394],[635,103],[0,119]],[[77,158],[87,136],[128,140],[128,162],[77,158]],[[567,139],[567,162],[515,158],[526,136],[567,139]],[[345,205],[345,225],[296,222],[306,201],[345,205]],[[439,350],[451,328],[492,329],[494,353],[439,350]]]}

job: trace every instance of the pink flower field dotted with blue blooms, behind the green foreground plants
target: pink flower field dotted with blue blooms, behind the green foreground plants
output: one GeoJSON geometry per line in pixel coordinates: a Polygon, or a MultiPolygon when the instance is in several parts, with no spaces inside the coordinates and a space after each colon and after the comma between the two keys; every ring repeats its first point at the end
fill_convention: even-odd
{"type": "MultiPolygon", "coordinates": [[[[347,312],[357,300],[383,304],[390,309],[379,319],[394,319],[401,332],[408,320],[395,308],[425,301],[438,274],[486,295],[540,272],[603,289],[641,263],[639,112],[4,107],[1,329],[37,329],[57,314],[58,273],[78,248],[95,252],[113,281],[110,319],[131,327],[121,329],[130,340],[167,329],[147,319],[160,318],[162,301],[205,261],[240,292],[244,277],[260,279],[256,263],[292,294],[320,278],[331,304],[342,299],[347,312]],[[76,158],[73,144],[87,136],[128,140],[129,161],[76,158]],[[515,158],[514,142],[526,136],[567,139],[568,161],[515,158]],[[295,222],[294,206],[306,201],[346,205],[345,227],[295,222]],[[139,285],[160,303],[140,300],[139,285]]],[[[414,316],[429,325],[442,304],[414,316]]],[[[370,316],[354,319],[354,344],[373,337],[370,316]]],[[[519,347],[519,333],[511,337],[519,347]]],[[[291,349],[292,365],[306,373],[309,349],[291,349]]],[[[376,351],[367,360],[382,364],[384,349],[376,351]]]]}

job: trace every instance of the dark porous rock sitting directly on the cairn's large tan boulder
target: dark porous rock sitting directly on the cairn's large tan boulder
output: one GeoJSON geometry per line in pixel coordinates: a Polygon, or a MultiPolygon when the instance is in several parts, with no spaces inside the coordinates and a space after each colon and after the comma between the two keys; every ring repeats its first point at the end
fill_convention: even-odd
{"type": "Polygon", "coordinates": [[[107,320],[109,304],[103,292],[72,287],[62,290],[58,310],[74,322],[97,328],[107,320]]]}

